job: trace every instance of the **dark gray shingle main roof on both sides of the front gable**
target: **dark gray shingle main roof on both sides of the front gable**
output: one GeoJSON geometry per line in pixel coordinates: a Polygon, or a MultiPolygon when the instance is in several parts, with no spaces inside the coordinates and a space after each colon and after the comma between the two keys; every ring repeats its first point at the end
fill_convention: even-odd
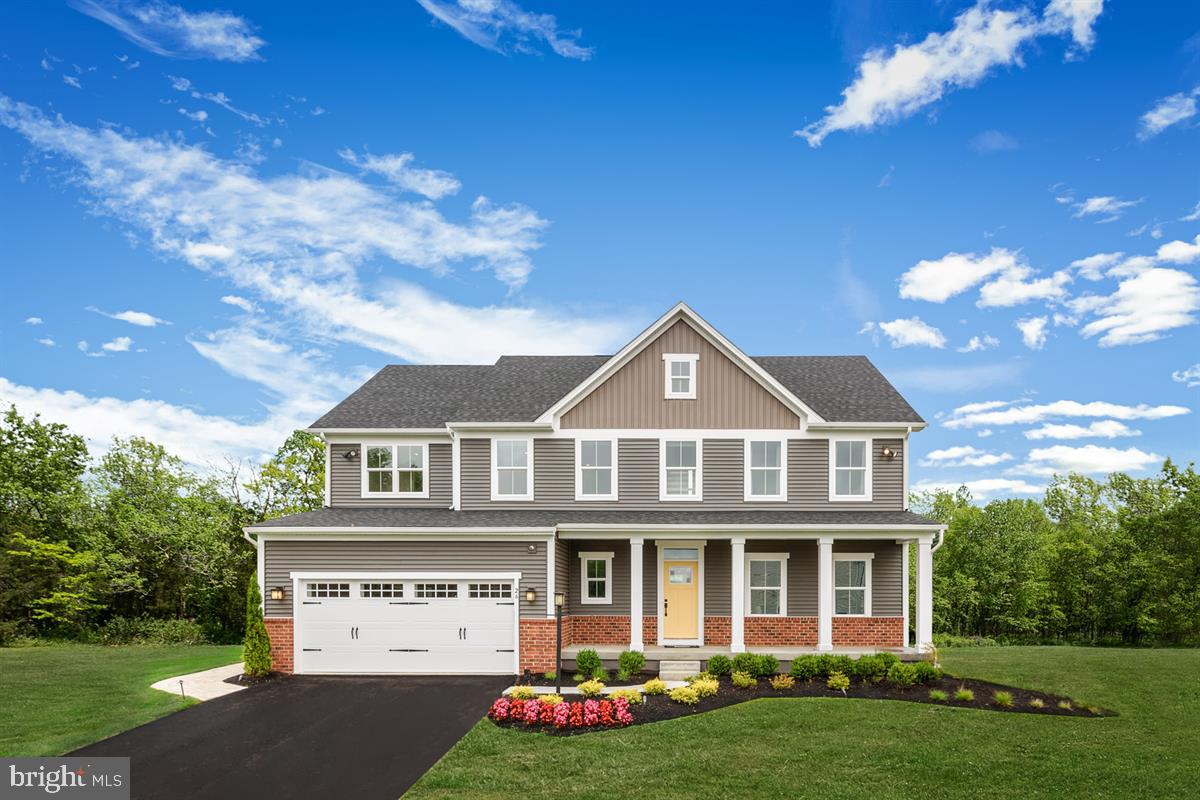
{"type": "MultiPolygon", "coordinates": [[[[391,365],[313,428],[439,428],[532,422],[611,356],[503,356],[491,366],[391,365]]],[[[767,372],[830,422],[923,422],[866,356],[758,356],[767,372]]]]}

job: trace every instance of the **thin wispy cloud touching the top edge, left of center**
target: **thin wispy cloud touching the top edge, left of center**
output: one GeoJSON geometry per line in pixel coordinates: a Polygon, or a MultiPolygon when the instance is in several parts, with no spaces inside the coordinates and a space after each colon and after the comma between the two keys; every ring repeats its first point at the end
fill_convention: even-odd
{"type": "Polygon", "coordinates": [[[580,44],[582,31],[562,30],[553,14],[529,12],[511,0],[416,0],[436,19],[488,50],[536,53],[544,42],[558,55],[587,61],[593,48],[580,44]]]}

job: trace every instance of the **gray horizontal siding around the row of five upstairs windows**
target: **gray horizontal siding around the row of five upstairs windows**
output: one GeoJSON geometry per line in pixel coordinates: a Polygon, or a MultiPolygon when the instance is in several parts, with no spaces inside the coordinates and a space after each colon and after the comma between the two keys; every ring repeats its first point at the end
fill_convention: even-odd
{"type": "MultiPolygon", "coordinates": [[[[872,494],[869,503],[829,500],[829,441],[793,439],[787,447],[787,501],[745,501],[745,444],[742,439],[706,439],[704,499],[700,503],[659,499],[659,440],[620,439],[617,444],[618,500],[575,500],[575,440],[534,439],[534,499],[492,501],[492,449],[488,439],[462,440],[462,507],[544,509],[554,511],[662,511],[746,509],[790,511],[898,511],[904,509],[902,439],[875,439],[872,494]],[[883,447],[895,452],[883,457],[883,447]]],[[[431,458],[432,461],[432,458],[431,458]]]]}

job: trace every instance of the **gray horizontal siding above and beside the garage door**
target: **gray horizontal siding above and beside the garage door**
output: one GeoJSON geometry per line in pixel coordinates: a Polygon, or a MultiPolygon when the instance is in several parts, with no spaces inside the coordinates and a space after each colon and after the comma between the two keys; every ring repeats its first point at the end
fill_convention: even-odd
{"type": "MultiPolygon", "coordinates": [[[[292,572],[337,572],[355,579],[368,572],[520,572],[517,602],[521,615],[546,616],[547,542],[452,542],[452,541],[313,541],[266,540],[263,542],[263,575],[266,616],[292,616],[292,572]],[[529,552],[530,543],[534,552],[529,552]],[[270,599],[271,587],[283,587],[284,599],[270,599]],[[538,599],[526,602],[524,590],[538,599]]],[[[628,572],[628,570],[626,570],[628,572]]]]}

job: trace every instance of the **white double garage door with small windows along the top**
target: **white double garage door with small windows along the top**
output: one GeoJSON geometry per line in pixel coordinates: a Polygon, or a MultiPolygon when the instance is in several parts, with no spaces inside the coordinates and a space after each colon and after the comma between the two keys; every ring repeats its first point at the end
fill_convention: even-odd
{"type": "Polygon", "coordinates": [[[516,615],[512,581],[300,581],[296,672],[512,674],[516,615]]]}

